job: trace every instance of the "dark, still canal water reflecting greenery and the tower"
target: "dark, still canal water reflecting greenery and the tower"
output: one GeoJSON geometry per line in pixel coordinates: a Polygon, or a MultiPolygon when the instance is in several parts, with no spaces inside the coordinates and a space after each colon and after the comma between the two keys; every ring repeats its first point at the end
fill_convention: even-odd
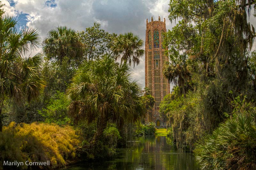
{"type": "Polygon", "coordinates": [[[166,136],[141,136],[128,141],[110,161],[74,165],[69,170],[196,170],[196,160],[189,151],[177,150],[166,136]]]}

